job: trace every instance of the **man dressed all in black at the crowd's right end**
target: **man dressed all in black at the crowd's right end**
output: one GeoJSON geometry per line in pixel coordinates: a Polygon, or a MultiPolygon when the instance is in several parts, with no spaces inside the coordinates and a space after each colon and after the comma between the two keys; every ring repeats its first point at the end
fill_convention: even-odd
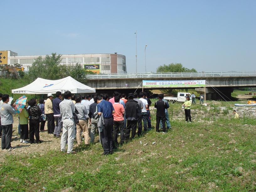
{"type": "Polygon", "coordinates": [[[166,128],[165,128],[165,121],[166,121],[166,117],[165,117],[165,109],[169,108],[169,105],[167,103],[167,101],[163,101],[163,93],[158,95],[159,100],[156,101],[155,103],[155,108],[157,108],[157,122],[156,122],[156,131],[159,131],[159,123],[160,120],[162,120],[163,123],[163,133],[166,133],[166,128]]]}

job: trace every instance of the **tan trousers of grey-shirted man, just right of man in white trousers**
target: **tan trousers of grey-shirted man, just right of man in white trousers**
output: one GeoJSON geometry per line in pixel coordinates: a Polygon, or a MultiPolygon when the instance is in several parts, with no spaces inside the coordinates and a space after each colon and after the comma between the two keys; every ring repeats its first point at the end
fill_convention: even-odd
{"type": "Polygon", "coordinates": [[[87,126],[87,120],[79,119],[79,123],[77,126],[77,144],[80,145],[82,143],[81,131],[83,131],[84,143],[88,145],[89,142],[89,131],[87,126]]]}

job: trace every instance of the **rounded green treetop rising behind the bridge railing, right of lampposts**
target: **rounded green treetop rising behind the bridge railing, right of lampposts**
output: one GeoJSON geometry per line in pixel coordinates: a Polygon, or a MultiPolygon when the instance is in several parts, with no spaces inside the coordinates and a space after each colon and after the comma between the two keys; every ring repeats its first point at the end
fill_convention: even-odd
{"type": "Polygon", "coordinates": [[[197,72],[194,68],[189,69],[183,67],[181,63],[171,63],[169,65],[160,65],[157,67],[157,73],[167,73],[167,72],[197,72]]]}

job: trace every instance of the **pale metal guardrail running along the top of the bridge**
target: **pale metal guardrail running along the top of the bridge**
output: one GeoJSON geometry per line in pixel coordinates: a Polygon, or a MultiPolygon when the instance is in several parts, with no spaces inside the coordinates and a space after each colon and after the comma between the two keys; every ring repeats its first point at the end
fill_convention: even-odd
{"type": "Polygon", "coordinates": [[[110,73],[88,74],[83,78],[109,79],[109,78],[151,78],[151,77],[243,77],[256,76],[256,72],[180,72],[180,73],[110,73]]]}

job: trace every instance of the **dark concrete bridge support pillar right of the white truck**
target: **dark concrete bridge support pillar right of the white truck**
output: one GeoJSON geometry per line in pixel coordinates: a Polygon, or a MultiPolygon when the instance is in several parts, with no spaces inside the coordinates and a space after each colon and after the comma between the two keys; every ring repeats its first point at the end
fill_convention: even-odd
{"type": "Polygon", "coordinates": [[[231,93],[233,90],[233,88],[195,88],[197,93],[205,94],[206,92],[207,100],[223,100],[223,98],[226,100],[227,98],[231,99],[231,93]]]}

